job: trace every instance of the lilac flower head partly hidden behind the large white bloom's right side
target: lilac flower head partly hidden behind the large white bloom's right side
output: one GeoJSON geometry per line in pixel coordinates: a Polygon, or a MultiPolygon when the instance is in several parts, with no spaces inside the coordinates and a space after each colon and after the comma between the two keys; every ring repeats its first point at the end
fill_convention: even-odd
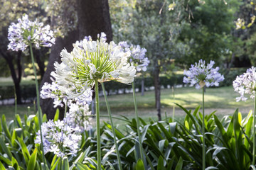
{"type": "Polygon", "coordinates": [[[149,65],[148,57],[146,55],[146,49],[140,47],[139,45],[128,45],[126,41],[119,42],[124,52],[131,52],[131,57],[129,57],[130,62],[134,63],[138,72],[146,72],[146,67],[149,65]]]}

